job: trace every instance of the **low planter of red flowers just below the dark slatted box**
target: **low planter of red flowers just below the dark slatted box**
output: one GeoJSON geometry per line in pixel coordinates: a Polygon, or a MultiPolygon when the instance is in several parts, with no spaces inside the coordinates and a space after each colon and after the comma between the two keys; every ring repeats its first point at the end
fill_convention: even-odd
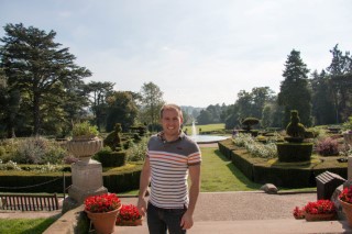
{"type": "Polygon", "coordinates": [[[318,200],[308,202],[305,210],[306,221],[327,221],[336,219],[337,209],[330,200],[318,200]]]}

